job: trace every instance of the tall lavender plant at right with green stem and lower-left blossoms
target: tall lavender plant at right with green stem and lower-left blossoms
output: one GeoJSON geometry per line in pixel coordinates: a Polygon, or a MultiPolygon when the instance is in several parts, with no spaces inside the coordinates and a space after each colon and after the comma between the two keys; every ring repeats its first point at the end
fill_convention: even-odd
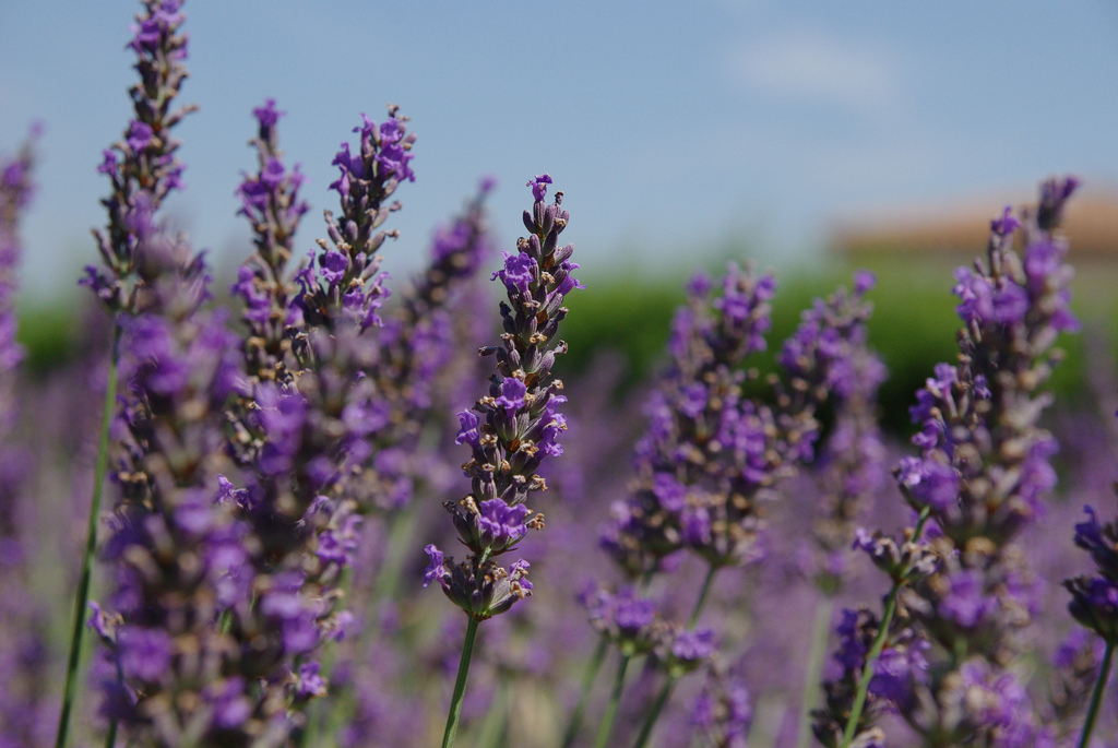
{"type": "Polygon", "coordinates": [[[1055,484],[1055,443],[1038,419],[1051,403],[1041,388],[1059,360],[1055,338],[1078,326],[1067,245],[1054,233],[1076,184],[1043,186],[1024,215],[1021,256],[1011,242],[1022,222],[1006,209],[986,261],[956,273],[959,362],[937,367],[918,394],[921,456],[897,470],[919,520],[901,547],[881,534],[858,541],[893,585],[880,621],[846,614],[843,674],[826,684],[816,719],[824,745],[878,739],[885,706],[929,746],[1051,740],[1012,667],[1035,609],[1032,571],[1012,541],[1055,484]]]}

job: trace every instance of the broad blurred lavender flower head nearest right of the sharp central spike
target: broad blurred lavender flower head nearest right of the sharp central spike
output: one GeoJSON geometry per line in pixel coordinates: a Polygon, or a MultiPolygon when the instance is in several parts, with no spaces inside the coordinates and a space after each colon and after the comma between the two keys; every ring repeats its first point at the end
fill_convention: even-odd
{"type": "Polygon", "coordinates": [[[656,570],[689,546],[714,566],[748,561],[755,548],[750,499],[773,480],[766,433],[775,423],[771,411],[742,398],[738,364],[765,348],[776,282],[731,265],[722,296],[711,300],[711,287],[697,277],[688,306],[676,312],[671,364],[636,448],[639,489],[615,505],[603,530],[603,547],[631,576],[656,570]],[[730,506],[732,518],[720,514],[730,506]]]}

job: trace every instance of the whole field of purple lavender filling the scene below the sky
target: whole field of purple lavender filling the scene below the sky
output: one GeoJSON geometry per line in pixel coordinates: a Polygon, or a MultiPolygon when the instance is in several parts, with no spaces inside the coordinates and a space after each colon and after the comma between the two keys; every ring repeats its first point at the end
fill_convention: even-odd
{"type": "Polygon", "coordinates": [[[858,271],[785,334],[799,302],[742,256],[648,333],[629,286],[578,280],[593,239],[533,164],[521,238],[481,177],[416,247],[395,214],[438,164],[395,105],[329,135],[320,222],[262,97],[226,278],[164,205],[206,116],[182,4],[131,27],[104,222],[59,269],[88,312],[34,367],[41,129],[3,133],[0,748],[1118,746],[1118,377],[1072,310],[1079,179],[985,207],[906,391],[927,330],[875,301],[922,288],[858,271]]]}

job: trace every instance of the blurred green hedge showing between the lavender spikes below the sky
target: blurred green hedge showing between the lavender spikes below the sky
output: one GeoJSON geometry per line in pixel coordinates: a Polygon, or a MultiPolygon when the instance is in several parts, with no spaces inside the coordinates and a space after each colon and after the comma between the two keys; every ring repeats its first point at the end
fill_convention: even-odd
{"type": "MultiPolygon", "coordinates": [[[[712,277],[718,267],[710,269],[712,277]]],[[[911,430],[908,408],[916,390],[940,361],[956,356],[956,300],[949,265],[894,264],[878,267],[878,285],[869,297],[874,303],[870,342],[882,354],[890,378],[881,390],[882,416],[887,428],[906,434],[911,430]]],[[[814,299],[830,294],[837,286],[850,286],[852,271],[830,268],[823,272],[785,269],[777,272],[777,294],[773,301],[773,329],[769,350],[757,356],[752,366],[771,371],[774,358],[799,322],[799,314],[814,299]]],[[[560,359],[557,372],[574,379],[584,375],[605,351],[620,354],[624,371],[618,395],[654,377],[664,363],[664,344],[675,307],[684,300],[688,273],[663,273],[656,277],[633,277],[623,272],[587,278],[588,288],[570,294],[570,315],[563,321],[562,337],[570,345],[560,359]]],[[[89,341],[79,339],[89,324],[83,318],[103,314],[92,304],[73,297],[25,301],[19,307],[19,340],[27,348],[27,370],[40,376],[73,360],[89,341]]],[[[1109,331],[1110,320],[1088,319],[1089,326],[1109,331]]],[[[496,310],[494,309],[494,318],[496,310]]],[[[1102,315],[1106,316],[1106,315],[1102,315]]],[[[1109,316],[1112,320],[1112,310],[1109,316]]],[[[93,325],[98,326],[98,325],[93,325]]],[[[1107,335],[1114,350],[1114,341],[1107,335]]],[[[1080,335],[1064,335],[1061,347],[1068,360],[1057,369],[1053,387],[1064,403],[1082,405],[1086,398],[1086,344],[1080,335]]],[[[1112,352],[1110,353],[1112,356],[1112,352]]]]}

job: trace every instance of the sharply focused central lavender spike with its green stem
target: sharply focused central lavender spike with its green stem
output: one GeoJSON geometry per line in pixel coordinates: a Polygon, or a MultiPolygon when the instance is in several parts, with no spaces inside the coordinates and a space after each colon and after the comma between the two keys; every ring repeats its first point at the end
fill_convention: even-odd
{"type": "Polygon", "coordinates": [[[489,395],[458,414],[456,443],[472,451],[463,465],[471,493],[445,506],[470,555],[455,564],[434,545],[425,549],[430,565],[424,586],[438,581],[468,616],[444,748],[457,733],[479,623],[505,613],[532,591],[528,561],[519,559],[505,569],[493,558],[513,550],[529,528],[542,529],[543,515],[532,514],[524,502],[547,489],[537,473],[544,456],[562,454],[559,436],[566,419],[559,406],[567,398],[559,394],[562,382],[551,377],[551,368],[556,356],[567,350],[556,339],[567,316],[563,299],[582,286],[571,275],[578,267],[570,262],[575,245],[559,246],[569,219],[561,208],[562,192],[556,192],[551,205],[544,200],[550,183],[548,174],[528,183],[534,198],[532,209],[524,211],[529,236],[518,240],[517,254],[504,253],[504,268],[493,274],[504,284],[509,302],[501,303],[502,344],[482,349],[483,356],[496,358],[489,395]]]}

